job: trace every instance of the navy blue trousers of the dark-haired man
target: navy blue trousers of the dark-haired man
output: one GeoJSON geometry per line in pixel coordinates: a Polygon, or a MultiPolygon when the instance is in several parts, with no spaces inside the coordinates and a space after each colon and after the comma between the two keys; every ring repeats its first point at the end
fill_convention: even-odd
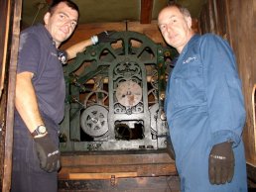
{"type": "MultiPolygon", "coordinates": [[[[59,126],[44,118],[53,142],[59,145],[59,126]]],[[[57,192],[58,172],[40,168],[35,142],[20,117],[15,118],[13,145],[12,192],[57,192]]]]}

